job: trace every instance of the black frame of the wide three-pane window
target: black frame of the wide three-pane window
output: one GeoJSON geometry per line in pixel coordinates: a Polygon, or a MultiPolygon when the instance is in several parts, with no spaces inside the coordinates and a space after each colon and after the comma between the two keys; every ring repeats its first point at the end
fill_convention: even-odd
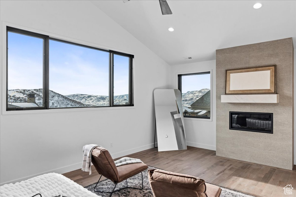
{"type": "Polygon", "coordinates": [[[133,101],[133,60],[134,55],[123,53],[119,51],[108,50],[91,45],[85,45],[81,43],[71,42],[65,39],[51,37],[40,33],[35,33],[27,30],[22,30],[15,27],[6,26],[6,111],[21,111],[21,110],[54,110],[54,109],[85,109],[85,108],[112,108],[112,107],[131,107],[134,106],[133,101]],[[26,108],[8,108],[8,32],[19,33],[22,35],[32,36],[36,38],[42,38],[43,41],[43,105],[42,107],[26,107],[26,108]],[[109,53],[109,106],[88,106],[88,107],[61,107],[61,108],[49,108],[49,40],[81,46],[85,48],[91,48],[98,51],[104,51],[109,53]],[[129,58],[129,92],[128,100],[129,104],[114,105],[114,54],[121,55],[129,58]]]}

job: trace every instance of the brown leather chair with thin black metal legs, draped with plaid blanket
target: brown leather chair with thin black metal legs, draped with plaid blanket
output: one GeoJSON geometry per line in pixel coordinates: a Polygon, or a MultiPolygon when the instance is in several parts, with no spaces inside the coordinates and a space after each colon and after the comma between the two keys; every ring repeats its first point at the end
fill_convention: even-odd
{"type": "Polygon", "coordinates": [[[96,183],[96,186],[94,187],[95,192],[106,192],[110,193],[110,196],[112,193],[125,189],[125,188],[132,188],[128,187],[127,179],[132,177],[133,175],[136,175],[141,172],[142,175],[142,188],[133,188],[133,189],[143,189],[143,173],[142,171],[146,170],[148,166],[144,163],[132,163],[132,164],[126,164],[116,167],[114,160],[112,159],[109,151],[103,147],[95,147],[93,151],[91,152],[91,162],[94,164],[94,167],[96,168],[96,171],[102,176],[112,180],[113,183],[115,183],[115,186],[112,190],[112,192],[109,191],[96,191],[96,186],[98,185],[101,177],[99,178],[98,182],[96,183]],[[126,180],[126,187],[115,190],[115,187],[117,183],[120,183],[121,181],[126,180]]]}

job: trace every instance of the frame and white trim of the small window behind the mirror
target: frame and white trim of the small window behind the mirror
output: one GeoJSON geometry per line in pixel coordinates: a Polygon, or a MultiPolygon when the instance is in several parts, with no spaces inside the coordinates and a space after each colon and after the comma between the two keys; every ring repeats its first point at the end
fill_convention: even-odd
{"type": "Polygon", "coordinates": [[[201,75],[201,74],[210,74],[210,117],[202,117],[202,116],[187,116],[183,115],[184,118],[196,118],[196,120],[212,120],[212,71],[201,71],[201,72],[189,72],[189,73],[177,73],[177,87],[180,90],[182,95],[182,76],[190,76],[190,75],[201,75]]]}

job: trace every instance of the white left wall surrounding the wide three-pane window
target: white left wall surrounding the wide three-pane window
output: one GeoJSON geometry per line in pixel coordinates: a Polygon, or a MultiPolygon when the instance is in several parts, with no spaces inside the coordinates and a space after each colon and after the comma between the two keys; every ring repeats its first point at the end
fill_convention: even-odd
{"type": "Polygon", "coordinates": [[[169,88],[168,64],[90,1],[1,1],[0,7],[0,111],[5,107],[3,25],[6,22],[26,30],[135,55],[135,107],[1,114],[1,185],[45,172],[78,169],[85,144],[100,144],[115,158],[153,147],[153,90],[169,88]],[[110,142],[113,142],[112,148],[110,142]]]}

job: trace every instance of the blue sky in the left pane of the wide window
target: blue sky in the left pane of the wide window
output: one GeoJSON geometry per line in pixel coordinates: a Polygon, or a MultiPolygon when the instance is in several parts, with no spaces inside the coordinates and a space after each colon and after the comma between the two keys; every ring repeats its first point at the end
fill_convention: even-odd
{"type": "Polygon", "coordinates": [[[8,33],[8,89],[42,88],[42,53],[42,39],[8,33]]]}

